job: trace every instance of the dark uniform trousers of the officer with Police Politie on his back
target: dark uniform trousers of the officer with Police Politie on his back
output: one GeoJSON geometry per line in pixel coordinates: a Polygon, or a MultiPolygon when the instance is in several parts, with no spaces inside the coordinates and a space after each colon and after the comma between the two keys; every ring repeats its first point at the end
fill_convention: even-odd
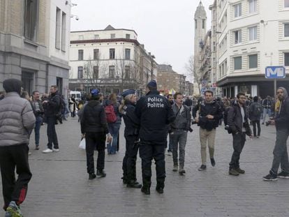
{"type": "Polygon", "coordinates": [[[151,186],[151,160],[156,162],[156,181],[159,185],[165,182],[165,143],[140,142],[140,158],[142,158],[142,184],[151,186]]]}

